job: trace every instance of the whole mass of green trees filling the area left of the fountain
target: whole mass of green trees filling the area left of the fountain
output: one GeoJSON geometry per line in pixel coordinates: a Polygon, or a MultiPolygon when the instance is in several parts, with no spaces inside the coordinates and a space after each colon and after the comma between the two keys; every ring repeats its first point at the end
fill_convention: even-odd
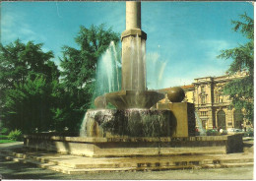
{"type": "Polygon", "coordinates": [[[96,61],[119,35],[104,26],[81,27],[79,48],[63,47],[62,72],[42,43],[0,44],[1,126],[22,133],[78,132],[95,91],[96,61]],[[62,76],[62,77],[60,77],[62,76]]]}

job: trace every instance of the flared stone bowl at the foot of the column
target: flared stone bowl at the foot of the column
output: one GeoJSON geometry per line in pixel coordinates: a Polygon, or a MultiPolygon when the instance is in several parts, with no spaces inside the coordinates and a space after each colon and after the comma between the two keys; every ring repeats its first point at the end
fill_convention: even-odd
{"type": "Polygon", "coordinates": [[[105,98],[117,109],[150,109],[160,99],[164,98],[164,94],[157,91],[115,91],[106,93],[105,98]]]}

